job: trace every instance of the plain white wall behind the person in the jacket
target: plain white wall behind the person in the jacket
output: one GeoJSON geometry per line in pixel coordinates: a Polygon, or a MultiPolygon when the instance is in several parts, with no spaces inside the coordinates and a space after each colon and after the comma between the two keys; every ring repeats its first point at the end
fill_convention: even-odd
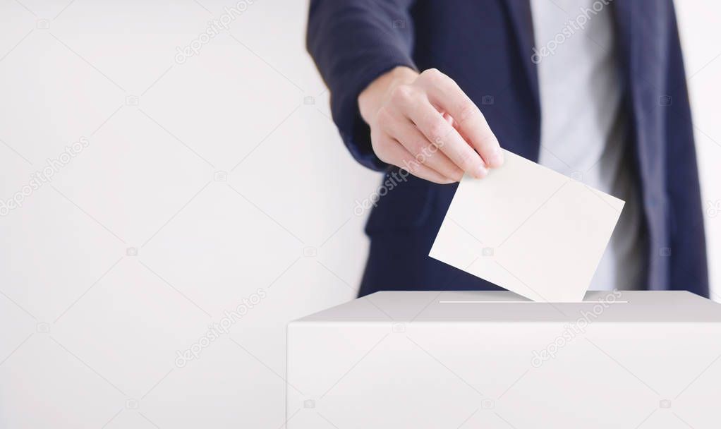
{"type": "MultiPolygon", "coordinates": [[[[306,2],[246,4],[175,61],[235,3],[0,0],[0,198],[88,142],[0,217],[0,427],[278,428],[286,322],[355,295],[367,242],[353,208],[378,176],[328,118],[306,2]],[[244,299],[260,302],[177,366],[244,299]]],[[[679,12],[710,204],[721,9],[679,12]]]]}

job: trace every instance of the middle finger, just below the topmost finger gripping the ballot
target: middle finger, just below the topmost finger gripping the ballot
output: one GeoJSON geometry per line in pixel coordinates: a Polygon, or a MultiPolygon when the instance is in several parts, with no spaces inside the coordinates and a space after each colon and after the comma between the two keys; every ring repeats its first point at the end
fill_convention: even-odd
{"type": "Polygon", "coordinates": [[[425,138],[438,146],[456,166],[473,177],[485,177],[488,173],[485,162],[430,102],[415,102],[407,114],[425,138]]]}

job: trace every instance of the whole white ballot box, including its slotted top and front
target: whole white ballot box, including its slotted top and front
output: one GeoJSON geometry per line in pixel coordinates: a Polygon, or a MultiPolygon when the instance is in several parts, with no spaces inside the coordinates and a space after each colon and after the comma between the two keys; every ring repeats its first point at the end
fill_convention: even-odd
{"type": "Polygon", "coordinates": [[[288,429],[719,428],[721,306],[689,292],[379,292],[288,325],[288,429]]]}

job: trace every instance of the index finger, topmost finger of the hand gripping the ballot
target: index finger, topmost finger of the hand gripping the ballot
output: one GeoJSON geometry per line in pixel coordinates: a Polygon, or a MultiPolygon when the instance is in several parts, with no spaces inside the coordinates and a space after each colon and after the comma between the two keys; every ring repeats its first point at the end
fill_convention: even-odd
{"type": "Polygon", "coordinates": [[[461,136],[476,149],[488,167],[500,167],[503,151],[475,103],[453,79],[440,71],[429,69],[421,76],[427,82],[430,103],[451,115],[461,136]]]}

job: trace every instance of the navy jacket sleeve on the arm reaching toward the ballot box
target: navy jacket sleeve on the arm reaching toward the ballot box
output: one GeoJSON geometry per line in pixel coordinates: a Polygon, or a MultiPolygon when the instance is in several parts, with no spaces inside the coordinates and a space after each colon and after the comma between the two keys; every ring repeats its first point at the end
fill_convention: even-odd
{"type": "Polygon", "coordinates": [[[376,77],[413,62],[413,0],[311,0],[306,44],[330,90],[333,121],[350,154],[364,166],[387,164],[373,154],[358,94],[376,77]]]}

